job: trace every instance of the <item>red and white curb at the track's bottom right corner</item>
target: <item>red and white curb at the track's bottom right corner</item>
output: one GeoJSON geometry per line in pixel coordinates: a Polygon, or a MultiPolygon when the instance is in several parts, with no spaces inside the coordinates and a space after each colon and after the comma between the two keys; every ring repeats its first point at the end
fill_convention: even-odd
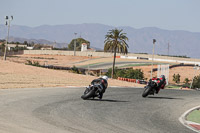
{"type": "Polygon", "coordinates": [[[196,109],[199,109],[200,106],[196,106],[194,108],[191,108],[189,110],[187,110],[185,113],[183,113],[181,115],[181,117],[179,118],[179,121],[184,125],[186,126],[187,128],[197,132],[197,133],[200,133],[200,123],[195,123],[195,122],[192,122],[192,121],[188,121],[186,120],[186,117],[189,113],[191,113],[192,111],[196,110],[196,109]]]}

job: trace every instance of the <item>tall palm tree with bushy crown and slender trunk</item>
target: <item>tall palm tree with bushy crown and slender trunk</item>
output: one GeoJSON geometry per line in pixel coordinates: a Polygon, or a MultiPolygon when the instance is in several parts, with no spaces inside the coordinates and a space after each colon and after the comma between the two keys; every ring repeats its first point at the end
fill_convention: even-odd
{"type": "Polygon", "coordinates": [[[116,53],[128,53],[128,37],[126,37],[126,33],[122,33],[123,30],[119,29],[112,29],[107,32],[105,36],[105,45],[104,45],[104,52],[114,52],[113,58],[113,67],[112,67],[112,75],[111,78],[114,77],[114,68],[115,68],[115,58],[116,53]]]}

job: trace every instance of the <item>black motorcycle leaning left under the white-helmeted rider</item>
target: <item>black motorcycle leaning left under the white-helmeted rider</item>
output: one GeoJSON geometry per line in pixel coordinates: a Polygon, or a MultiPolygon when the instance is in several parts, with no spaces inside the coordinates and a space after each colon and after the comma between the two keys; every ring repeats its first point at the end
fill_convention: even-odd
{"type": "Polygon", "coordinates": [[[99,85],[89,85],[86,87],[86,90],[84,94],[81,96],[83,100],[90,99],[90,98],[95,98],[99,96],[100,93],[100,86],[99,85]]]}

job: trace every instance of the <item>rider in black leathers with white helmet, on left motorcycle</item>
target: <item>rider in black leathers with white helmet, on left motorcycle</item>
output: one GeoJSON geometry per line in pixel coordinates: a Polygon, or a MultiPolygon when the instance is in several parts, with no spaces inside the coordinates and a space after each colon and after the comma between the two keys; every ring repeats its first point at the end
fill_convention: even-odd
{"type": "Polygon", "coordinates": [[[106,88],[108,87],[108,77],[102,76],[98,79],[94,79],[91,82],[92,85],[98,85],[99,86],[99,99],[102,99],[103,93],[106,91],[106,88]]]}

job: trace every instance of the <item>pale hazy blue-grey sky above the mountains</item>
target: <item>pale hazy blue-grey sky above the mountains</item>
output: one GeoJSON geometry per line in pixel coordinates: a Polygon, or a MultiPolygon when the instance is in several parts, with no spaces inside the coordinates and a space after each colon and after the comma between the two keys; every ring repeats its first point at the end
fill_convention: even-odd
{"type": "Polygon", "coordinates": [[[0,24],[100,23],[200,32],[200,0],[0,0],[0,24]]]}

